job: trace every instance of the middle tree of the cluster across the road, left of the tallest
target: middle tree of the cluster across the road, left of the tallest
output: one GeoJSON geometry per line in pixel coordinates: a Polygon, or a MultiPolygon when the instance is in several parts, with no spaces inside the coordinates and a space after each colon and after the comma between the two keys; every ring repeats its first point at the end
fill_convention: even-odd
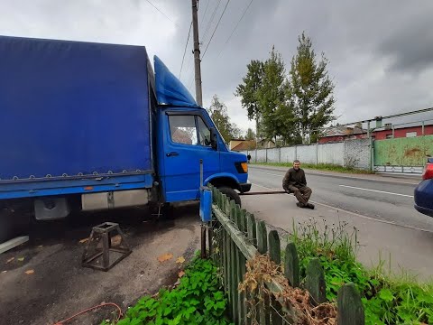
{"type": "Polygon", "coordinates": [[[287,142],[296,133],[293,107],[287,99],[288,83],[281,54],[272,47],[271,57],[263,64],[263,79],[257,91],[262,126],[267,139],[281,136],[287,142]]]}

